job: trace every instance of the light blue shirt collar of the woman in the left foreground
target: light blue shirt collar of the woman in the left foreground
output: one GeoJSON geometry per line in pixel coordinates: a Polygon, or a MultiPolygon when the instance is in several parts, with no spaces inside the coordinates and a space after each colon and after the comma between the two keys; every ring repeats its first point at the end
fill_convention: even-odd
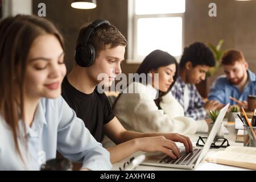
{"type": "Polygon", "coordinates": [[[40,132],[43,129],[43,125],[47,126],[45,108],[42,106],[42,102],[40,101],[35,110],[34,120],[32,122],[32,126],[28,126],[25,122],[26,133],[24,131],[23,122],[19,121],[19,129],[22,137],[26,137],[26,135],[30,135],[30,137],[39,137],[40,132]]]}

